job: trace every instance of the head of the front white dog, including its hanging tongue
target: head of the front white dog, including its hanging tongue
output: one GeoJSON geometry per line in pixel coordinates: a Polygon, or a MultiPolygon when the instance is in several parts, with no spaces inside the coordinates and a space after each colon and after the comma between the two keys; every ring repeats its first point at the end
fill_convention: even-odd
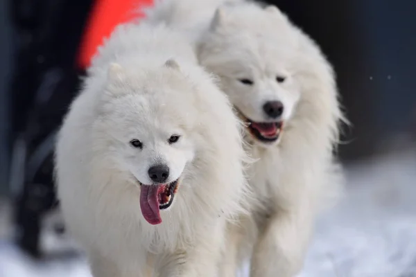
{"type": "Polygon", "coordinates": [[[161,222],[159,210],[173,204],[187,165],[193,161],[191,87],[179,66],[168,60],[155,71],[136,72],[111,64],[103,93],[101,138],[109,141],[115,165],[141,186],[141,210],[150,224],[161,222]],[[180,92],[178,92],[180,91],[180,92]],[[187,91],[189,93],[187,93],[187,91]],[[183,106],[183,105],[182,105],[183,106]]]}

